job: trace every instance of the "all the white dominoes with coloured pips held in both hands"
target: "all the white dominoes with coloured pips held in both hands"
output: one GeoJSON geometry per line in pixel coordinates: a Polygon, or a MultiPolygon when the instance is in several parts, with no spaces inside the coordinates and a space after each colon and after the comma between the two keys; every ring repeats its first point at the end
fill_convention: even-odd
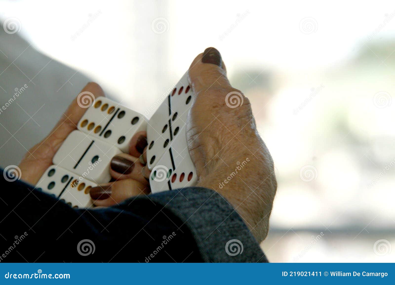
{"type": "Polygon", "coordinates": [[[78,130],[60,146],[36,189],[71,207],[90,207],[90,188],[111,180],[111,158],[128,153],[130,139],[142,130],[147,130],[152,193],[193,186],[196,170],[189,156],[185,126],[193,95],[185,75],[149,121],[117,102],[96,98],[79,121],[78,130]]]}

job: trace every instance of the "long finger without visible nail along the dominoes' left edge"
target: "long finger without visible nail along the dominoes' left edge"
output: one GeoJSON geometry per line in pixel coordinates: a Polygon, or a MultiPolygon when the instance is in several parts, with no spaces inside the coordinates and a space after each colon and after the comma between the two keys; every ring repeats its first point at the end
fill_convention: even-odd
{"type": "MultiPolygon", "coordinates": [[[[51,166],[52,158],[58,151],[60,145],[73,130],[77,129],[77,123],[87,110],[84,102],[81,102],[84,96],[89,98],[92,95],[96,98],[104,96],[103,89],[94,82],[89,82],[81,91],[80,98],[75,98],[70,106],[63,113],[62,118],[50,134],[40,143],[32,147],[24,156],[19,168],[21,169],[22,179],[28,183],[36,184],[45,170],[51,166]],[[85,92],[85,94],[83,94],[85,92]],[[92,95],[91,95],[92,94],[92,95]],[[78,100],[77,100],[78,99],[78,100]],[[84,108],[85,107],[85,108],[84,108]]],[[[90,100],[92,100],[91,98],[90,100]]]]}

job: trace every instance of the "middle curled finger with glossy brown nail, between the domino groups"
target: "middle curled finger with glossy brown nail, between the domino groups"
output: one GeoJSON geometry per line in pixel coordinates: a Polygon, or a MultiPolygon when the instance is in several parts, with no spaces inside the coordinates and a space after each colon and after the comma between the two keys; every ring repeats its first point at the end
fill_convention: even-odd
{"type": "Polygon", "coordinates": [[[127,153],[120,153],[111,159],[110,174],[111,177],[117,180],[130,178],[144,185],[148,185],[147,179],[141,173],[143,166],[138,157],[128,155],[127,153]]]}

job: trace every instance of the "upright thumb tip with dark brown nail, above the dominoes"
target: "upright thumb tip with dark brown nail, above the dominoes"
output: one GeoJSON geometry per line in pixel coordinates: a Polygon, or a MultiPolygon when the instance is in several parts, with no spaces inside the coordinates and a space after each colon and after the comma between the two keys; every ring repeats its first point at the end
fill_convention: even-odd
{"type": "Polygon", "coordinates": [[[206,48],[192,61],[188,75],[195,93],[209,88],[231,87],[221,54],[213,47],[206,48]]]}

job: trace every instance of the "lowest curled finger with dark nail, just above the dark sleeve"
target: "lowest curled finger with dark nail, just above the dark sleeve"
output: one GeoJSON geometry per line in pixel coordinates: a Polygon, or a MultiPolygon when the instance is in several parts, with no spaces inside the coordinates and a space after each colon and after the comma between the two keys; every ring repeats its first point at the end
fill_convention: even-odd
{"type": "Polygon", "coordinates": [[[123,200],[137,195],[147,195],[149,187],[133,179],[124,179],[99,185],[90,189],[90,197],[96,206],[118,205],[123,200]]]}

